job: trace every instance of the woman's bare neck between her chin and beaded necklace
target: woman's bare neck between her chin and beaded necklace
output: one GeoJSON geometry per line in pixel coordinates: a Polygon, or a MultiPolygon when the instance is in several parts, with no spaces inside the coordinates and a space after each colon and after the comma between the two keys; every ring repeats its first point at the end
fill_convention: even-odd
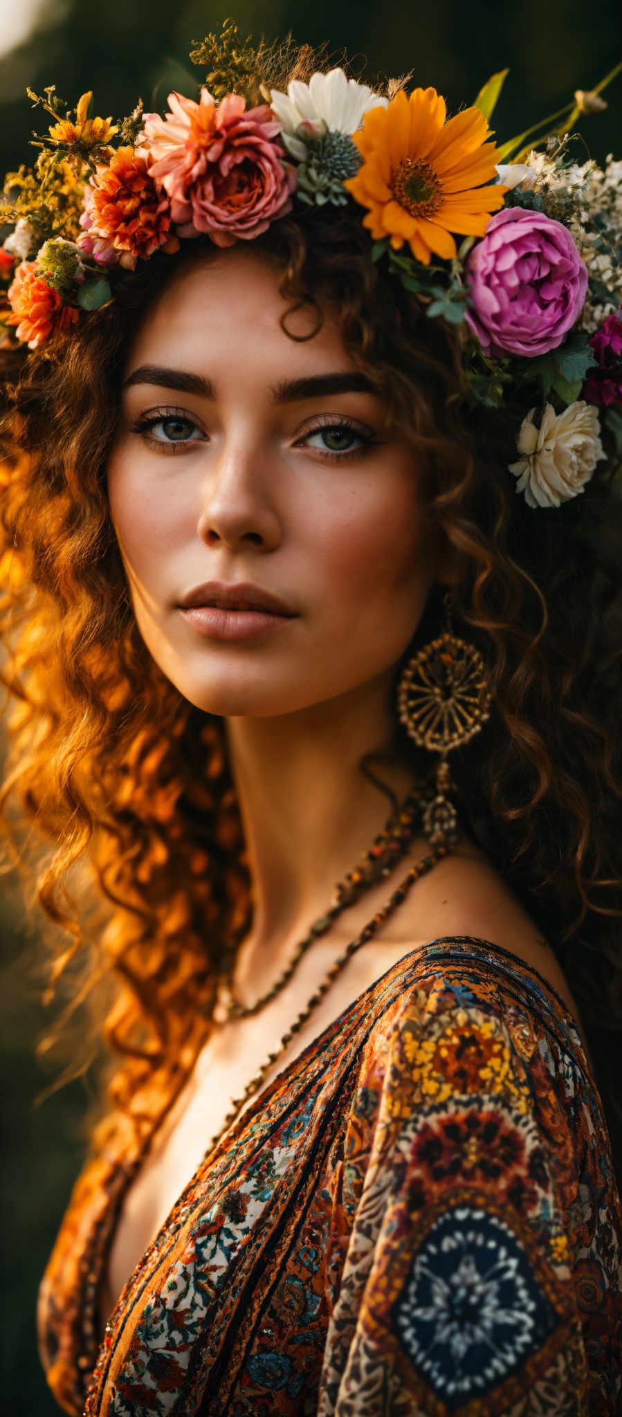
{"type": "MultiPolygon", "coordinates": [[[[388,751],[391,733],[383,686],[366,703],[358,690],[350,704],[326,700],[299,714],[227,720],[258,945],[302,935],[384,828],[390,798],[358,762],[388,751]]],[[[378,764],[377,772],[398,802],[414,788],[405,764],[378,764]]]]}

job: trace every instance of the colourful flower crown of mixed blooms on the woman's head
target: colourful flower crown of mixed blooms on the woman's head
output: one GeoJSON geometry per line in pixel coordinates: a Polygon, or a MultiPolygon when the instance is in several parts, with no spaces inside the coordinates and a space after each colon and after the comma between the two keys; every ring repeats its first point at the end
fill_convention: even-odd
{"type": "Polygon", "coordinates": [[[528,506],[558,507],[595,473],[619,496],[622,162],[578,166],[568,133],[606,106],[598,95],[622,64],[578,89],[536,147],[524,140],[543,125],[496,147],[489,119],[507,69],[448,119],[434,88],[391,79],[381,95],[341,68],[310,72],[309,48],[299,71],[300,55],[307,82],[268,86],[292,69],[290,38],[254,50],[225,21],[190,54],[208,68],[198,102],[173,92],[163,118],[139,102],[118,123],[88,116],[91,92],[72,119],[54,85],[45,98],[28,88],[54,123],[34,139],[34,169],[4,180],[0,220],[14,230],[0,247],[0,346],[37,350],[71,330],[156,251],[174,256],[200,234],[252,241],[295,203],[333,207],[336,221],[358,204],[370,261],[429,319],[462,327],[468,397],[520,412],[536,400],[509,463],[528,506]]]}

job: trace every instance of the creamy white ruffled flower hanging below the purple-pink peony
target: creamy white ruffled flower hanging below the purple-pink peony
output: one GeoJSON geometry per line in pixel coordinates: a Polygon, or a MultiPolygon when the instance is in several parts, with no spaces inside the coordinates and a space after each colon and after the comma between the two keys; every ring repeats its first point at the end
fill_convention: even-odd
{"type": "Polygon", "coordinates": [[[601,458],[606,458],[601,442],[598,408],[579,398],[555,414],[544,405],[540,428],[533,422],[536,407],[523,418],[517,438],[520,462],[510,463],[519,478],[516,490],[524,492],[530,507],[558,507],[584,490],[601,458]]]}

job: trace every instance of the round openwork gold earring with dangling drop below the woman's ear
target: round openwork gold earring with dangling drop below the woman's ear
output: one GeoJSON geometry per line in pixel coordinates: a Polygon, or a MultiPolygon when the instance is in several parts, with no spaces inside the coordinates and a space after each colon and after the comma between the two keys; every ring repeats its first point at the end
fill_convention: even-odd
{"type": "Polygon", "coordinates": [[[445,623],[405,665],[397,687],[400,721],[419,748],[439,752],[436,795],[422,815],[422,829],[432,846],[460,839],[449,795],[452,777],[448,752],[473,738],[490,717],[490,682],[475,645],[453,635],[451,602],[445,597],[445,623]]]}

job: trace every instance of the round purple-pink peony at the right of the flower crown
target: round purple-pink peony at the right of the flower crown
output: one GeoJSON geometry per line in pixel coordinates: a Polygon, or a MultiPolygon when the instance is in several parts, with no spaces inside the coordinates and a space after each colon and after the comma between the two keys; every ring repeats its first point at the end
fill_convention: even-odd
{"type": "Polygon", "coordinates": [[[504,207],[473,247],[466,282],[475,309],[465,319],[485,353],[534,357],[557,349],[577,323],[588,269],[561,221],[504,207]]]}

